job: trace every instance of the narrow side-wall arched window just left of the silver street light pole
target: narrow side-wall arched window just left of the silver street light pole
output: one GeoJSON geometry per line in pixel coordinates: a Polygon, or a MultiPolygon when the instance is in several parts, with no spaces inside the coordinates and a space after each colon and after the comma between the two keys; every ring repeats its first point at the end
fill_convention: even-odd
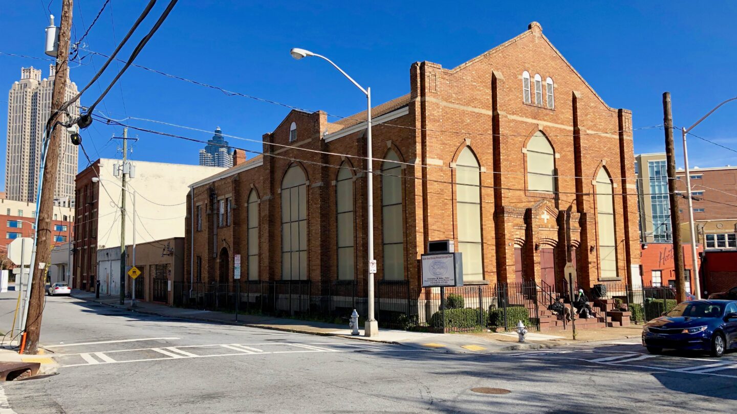
{"type": "Polygon", "coordinates": [[[335,181],[338,214],[338,280],[353,280],[353,175],[345,165],[335,181]]]}

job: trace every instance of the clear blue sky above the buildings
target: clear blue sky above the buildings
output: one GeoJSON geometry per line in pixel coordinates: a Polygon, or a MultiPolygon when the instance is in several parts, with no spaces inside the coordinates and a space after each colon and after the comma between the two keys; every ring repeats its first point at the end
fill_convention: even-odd
{"type": "MultiPolygon", "coordinates": [[[[82,35],[103,0],[74,1],[72,40],[82,35]]],[[[156,10],[129,41],[122,57],[156,20],[156,10]]],[[[0,0],[0,52],[43,55],[46,0],[0,0]],[[11,7],[12,3],[12,7],[11,7]]],[[[91,29],[88,48],[108,54],[143,9],[144,0],[111,0],[91,29]]],[[[674,122],[690,125],[713,105],[737,95],[737,3],[694,1],[620,4],[615,1],[252,1],[181,0],[139,55],[136,63],[231,91],[272,99],[308,110],[348,116],[364,109],[360,91],[321,60],[293,60],[291,47],[326,55],[357,80],[371,86],[377,104],[409,91],[409,68],[421,60],[452,68],[481,55],[539,21],[543,32],[613,108],[632,110],[635,127],[661,124],[661,94],[673,95],[674,122]],[[449,7],[450,6],[450,7],[449,7]]],[[[50,10],[60,15],[60,0],[50,10]]],[[[84,54],[80,54],[82,56],[84,54]]],[[[94,66],[103,62],[94,58],[94,66]]],[[[93,60],[72,69],[81,88],[94,74],[93,60]]],[[[0,55],[0,89],[18,80],[21,66],[48,76],[49,62],[0,55]]],[[[76,65],[72,65],[76,66],[76,65]]],[[[102,77],[105,88],[115,70],[102,77]]],[[[99,94],[93,86],[82,98],[99,94]]],[[[172,80],[131,67],[98,109],[113,117],[137,116],[260,140],[288,109],[172,80]]],[[[7,94],[0,94],[7,108],[7,94]]],[[[694,133],[737,149],[737,103],[725,106],[694,133]]],[[[212,133],[186,131],[147,122],[142,127],[207,139],[212,133]]],[[[4,161],[7,119],[0,117],[4,161]]],[[[119,127],[95,122],[84,132],[90,157],[119,157],[119,127]]],[[[202,147],[173,138],[139,134],[132,158],[196,164],[202,147]]],[[[239,147],[259,144],[230,139],[239,147]]],[[[737,153],[691,138],[691,165],[737,164],[737,153]]],[[[677,145],[680,149],[680,145],[677,145]]],[[[635,152],[663,152],[663,131],[635,132],[635,152]]],[[[678,151],[679,157],[680,150],[678,151]]],[[[682,163],[679,162],[679,165],[682,163]]],[[[87,165],[80,152],[80,169],[87,165]]],[[[0,187],[4,187],[4,168],[0,187]]]]}

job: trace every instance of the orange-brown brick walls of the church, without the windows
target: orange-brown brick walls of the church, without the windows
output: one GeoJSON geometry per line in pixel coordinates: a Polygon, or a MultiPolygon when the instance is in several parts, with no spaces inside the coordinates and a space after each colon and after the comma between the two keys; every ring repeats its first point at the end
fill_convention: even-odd
{"type": "MultiPolygon", "coordinates": [[[[402,220],[394,222],[401,223],[404,234],[403,277],[418,287],[419,257],[427,242],[454,239],[458,246],[455,162],[465,147],[481,166],[483,281],[473,283],[514,281],[521,266],[523,278],[537,282],[543,280],[542,267],[549,267],[554,279],[548,280],[560,284],[568,245],[581,285],[630,280],[632,268],[640,264],[632,114],[609,108],[542,35],[539,24],[530,24],[521,35],[455,69],[420,62],[411,65],[409,74],[409,94],[372,110],[378,280],[385,273],[383,222],[388,219],[382,217],[381,160],[391,150],[402,165],[402,220]],[[524,71],[542,77],[539,105],[535,97],[524,102],[524,71]],[[553,81],[554,103],[545,90],[548,77],[553,81]],[[525,148],[539,132],[554,151],[553,192],[528,189],[525,148]],[[614,193],[616,269],[609,278],[601,278],[598,256],[595,179],[601,169],[611,177],[614,193]],[[567,222],[570,242],[565,241],[567,222]],[[521,249],[517,268],[515,248],[521,249]],[[548,264],[541,266],[541,260],[548,264]]],[[[531,94],[536,94],[534,85],[531,94]]],[[[186,278],[191,271],[195,281],[232,281],[234,254],[242,256],[242,278],[247,277],[246,203],[253,191],[259,199],[259,279],[282,279],[282,178],[296,164],[307,178],[307,278],[313,292],[319,292],[321,284],[337,278],[335,180],[338,168],[345,165],[354,173],[354,275],[363,284],[368,272],[362,158],[366,137],[365,125],[358,120],[366,114],[335,123],[326,118],[321,111],[291,111],[273,133],[263,136],[265,155],[192,186],[194,206],[190,198],[186,217],[186,278]],[[296,141],[290,142],[293,122],[296,141]],[[222,226],[217,214],[221,199],[230,199],[232,206],[230,224],[224,220],[222,226]],[[201,272],[192,268],[192,243],[195,267],[201,260],[201,272]],[[221,253],[227,253],[223,259],[221,253]],[[221,263],[228,266],[226,273],[221,273],[221,263]]]]}

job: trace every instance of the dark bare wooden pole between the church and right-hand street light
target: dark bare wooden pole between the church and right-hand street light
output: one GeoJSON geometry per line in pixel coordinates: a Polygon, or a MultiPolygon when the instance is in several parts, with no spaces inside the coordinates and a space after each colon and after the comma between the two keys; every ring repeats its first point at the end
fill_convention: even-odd
{"type": "Polygon", "coordinates": [[[671,93],[663,92],[663,127],[666,130],[666,160],[668,163],[668,199],[671,201],[671,231],[673,235],[673,261],[676,271],[676,300],[686,300],[686,285],[683,278],[683,249],[681,248],[681,220],[678,214],[676,189],[676,153],[673,144],[673,113],[671,93]]]}

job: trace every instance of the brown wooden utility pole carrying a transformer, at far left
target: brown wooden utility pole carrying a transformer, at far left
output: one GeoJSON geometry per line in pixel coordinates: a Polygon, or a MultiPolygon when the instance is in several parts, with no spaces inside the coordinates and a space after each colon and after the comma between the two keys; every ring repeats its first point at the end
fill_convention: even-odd
{"type": "MultiPolygon", "coordinates": [[[[54,214],[54,192],[59,165],[59,147],[65,135],[64,127],[57,127],[55,122],[60,120],[60,108],[64,103],[66,80],[69,78],[69,33],[71,31],[71,10],[73,0],[63,0],[61,6],[61,21],[59,27],[59,46],[56,57],[54,77],[54,91],[51,98],[51,138],[46,147],[46,160],[43,162],[43,181],[41,183],[41,200],[38,208],[38,239],[36,239],[35,262],[31,267],[33,280],[31,282],[31,298],[28,304],[26,320],[25,354],[36,354],[38,337],[41,335],[41,314],[43,312],[43,296],[46,293],[46,266],[51,259],[52,246],[52,217],[54,214]]],[[[66,121],[66,119],[62,119],[66,121]]],[[[46,128],[48,131],[48,127],[46,128]]]]}

